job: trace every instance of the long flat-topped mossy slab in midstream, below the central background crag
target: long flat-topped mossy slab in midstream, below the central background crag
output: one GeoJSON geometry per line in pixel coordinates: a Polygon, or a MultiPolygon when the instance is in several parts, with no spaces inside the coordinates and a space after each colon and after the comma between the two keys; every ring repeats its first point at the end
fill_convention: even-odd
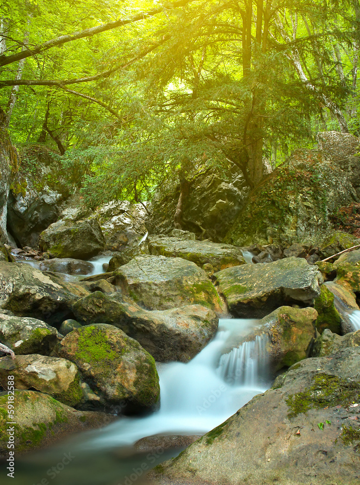
{"type": "Polygon", "coordinates": [[[210,263],[215,271],[245,264],[240,247],[209,241],[190,241],[168,236],[149,236],[150,254],[183,258],[202,267],[210,263]]]}

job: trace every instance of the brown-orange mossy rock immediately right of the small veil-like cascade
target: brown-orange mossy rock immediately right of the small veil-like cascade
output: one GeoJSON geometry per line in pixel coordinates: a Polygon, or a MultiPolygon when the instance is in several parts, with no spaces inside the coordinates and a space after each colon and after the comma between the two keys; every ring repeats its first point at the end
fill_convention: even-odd
{"type": "Polygon", "coordinates": [[[311,307],[280,307],[260,320],[257,333],[269,336],[268,352],[273,371],[309,357],[317,317],[317,311],[311,307]]]}

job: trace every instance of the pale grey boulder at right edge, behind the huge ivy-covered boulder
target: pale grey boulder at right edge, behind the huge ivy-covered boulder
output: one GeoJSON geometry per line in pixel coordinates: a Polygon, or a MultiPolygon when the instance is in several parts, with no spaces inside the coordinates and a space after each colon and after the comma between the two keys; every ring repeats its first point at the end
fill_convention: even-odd
{"type": "Polygon", "coordinates": [[[360,197],[360,140],[350,133],[322,131],[316,135],[318,146],[328,153],[334,162],[348,175],[360,197]]]}

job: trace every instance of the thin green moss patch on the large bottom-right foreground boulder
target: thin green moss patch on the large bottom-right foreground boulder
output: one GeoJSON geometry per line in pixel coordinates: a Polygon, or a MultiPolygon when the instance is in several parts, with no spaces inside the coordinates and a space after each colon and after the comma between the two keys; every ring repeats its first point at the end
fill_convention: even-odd
{"type": "Polygon", "coordinates": [[[310,408],[347,405],[359,399],[360,382],[346,381],[334,375],[318,374],[312,386],[303,392],[291,394],[286,400],[288,417],[306,413],[310,408]]]}

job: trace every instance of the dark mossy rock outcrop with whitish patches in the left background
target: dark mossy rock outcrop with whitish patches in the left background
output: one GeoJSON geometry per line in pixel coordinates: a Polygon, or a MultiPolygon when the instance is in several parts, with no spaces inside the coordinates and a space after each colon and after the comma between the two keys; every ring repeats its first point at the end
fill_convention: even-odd
{"type": "Polygon", "coordinates": [[[35,247],[71,191],[61,162],[44,146],[27,146],[8,201],[8,227],[21,247],[35,247]]]}

